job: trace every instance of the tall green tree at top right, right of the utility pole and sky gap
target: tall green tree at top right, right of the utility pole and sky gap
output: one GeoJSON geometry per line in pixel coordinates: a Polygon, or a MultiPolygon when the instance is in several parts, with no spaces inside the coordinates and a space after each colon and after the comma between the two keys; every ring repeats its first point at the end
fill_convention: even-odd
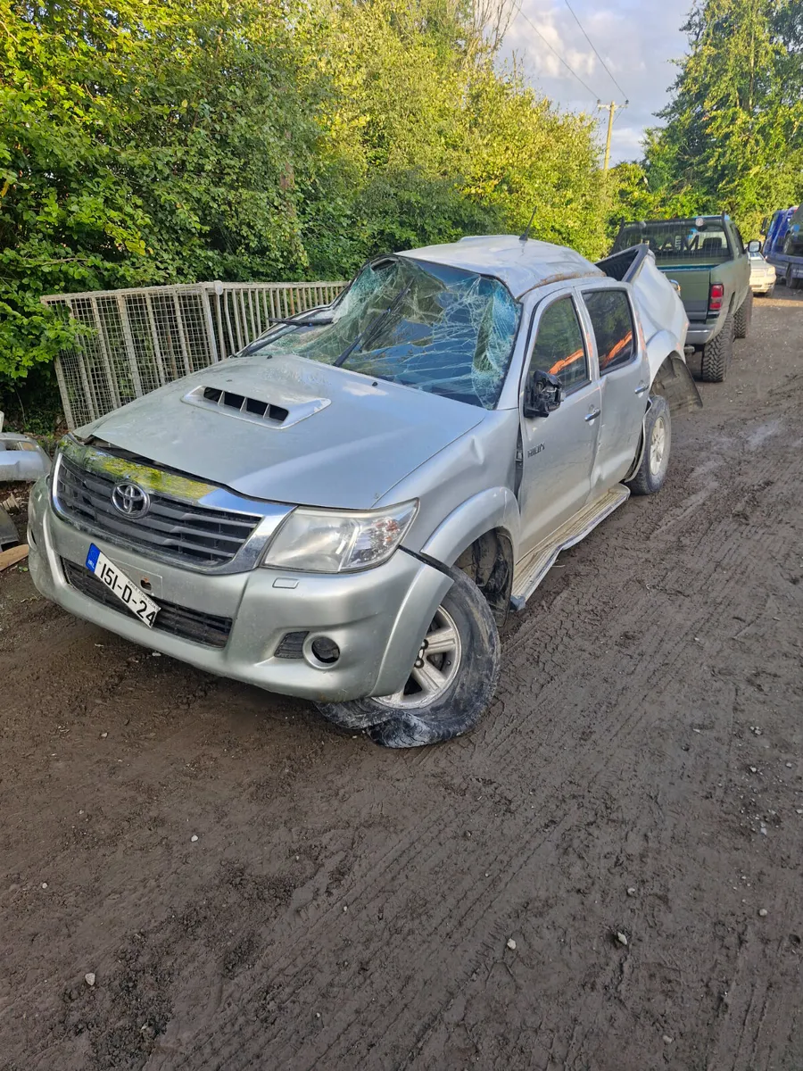
{"type": "Polygon", "coordinates": [[[691,51],[647,142],[651,188],[683,212],[728,211],[745,235],[801,191],[800,0],[701,0],[691,51]]]}

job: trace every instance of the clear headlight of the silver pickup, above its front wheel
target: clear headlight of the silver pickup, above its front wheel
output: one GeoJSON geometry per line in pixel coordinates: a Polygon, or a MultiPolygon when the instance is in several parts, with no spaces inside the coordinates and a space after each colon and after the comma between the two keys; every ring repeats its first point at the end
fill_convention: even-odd
{"type": "Polygon", "coordinates": [[[418,501],[369,513],[293,510],[268,547],[263,565],[309,573],[343,573],[380,565],[412,524],[418,501]]]}

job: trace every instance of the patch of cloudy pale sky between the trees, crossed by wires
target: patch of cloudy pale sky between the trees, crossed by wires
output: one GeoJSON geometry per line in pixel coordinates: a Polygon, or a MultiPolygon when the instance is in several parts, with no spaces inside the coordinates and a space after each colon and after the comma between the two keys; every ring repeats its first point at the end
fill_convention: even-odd
{"type": "MultiPolygon", "coordinates": [[[[622,93],[566,6],[566,0],[514,0],[514,19],[505,36],[502,57],[513,54],[527,80],[550,100],[575,111],[591,111],[597,97],[606,104],[622,103],[622,93]],[[561,64],[539,39],[527,19],[537,28],[588,89],[561,64]],[[589,92],[592,90],[593,92],[589,92]]],[[[685,22],[692,0],[569,0],[582,28],[630,100],[616,112],[611,138],[611,164],[639,160],[645,127],[655,126],[667,102],[667,90],[677,77],[671,62],[686,49],[685,22]]],[[[605,138],[607,111],[600,115],[600,137],[605,138]]]]}

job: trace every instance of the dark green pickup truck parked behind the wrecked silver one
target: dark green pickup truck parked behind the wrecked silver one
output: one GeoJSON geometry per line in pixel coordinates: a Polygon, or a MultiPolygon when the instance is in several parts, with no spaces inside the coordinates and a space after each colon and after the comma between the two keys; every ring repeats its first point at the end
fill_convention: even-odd
{"type": "Polygon", "coordinates": [[[749,259],[736,224],[725,214],[624,223],[611,253],[642,243],[680,287],[688,317],[686,346],[702,350],[701,378],[721,383],[733,338],[747,337],[753,315],[749,259]]]}

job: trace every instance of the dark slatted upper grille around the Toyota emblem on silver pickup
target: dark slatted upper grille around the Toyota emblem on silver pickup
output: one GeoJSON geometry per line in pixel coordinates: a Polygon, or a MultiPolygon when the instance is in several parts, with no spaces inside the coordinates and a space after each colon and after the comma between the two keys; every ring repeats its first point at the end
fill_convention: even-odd
{"type": "Polygon", "coordinates": [[[143,517],[126,517],[111,504],[117,483],[119,480],[80,468],[62,454],[56,486],[59,510],[69,521],[112,542],[191,568],[208,569],[231,561],[260,519],[156,494],[151,494],[143,517]]]}

